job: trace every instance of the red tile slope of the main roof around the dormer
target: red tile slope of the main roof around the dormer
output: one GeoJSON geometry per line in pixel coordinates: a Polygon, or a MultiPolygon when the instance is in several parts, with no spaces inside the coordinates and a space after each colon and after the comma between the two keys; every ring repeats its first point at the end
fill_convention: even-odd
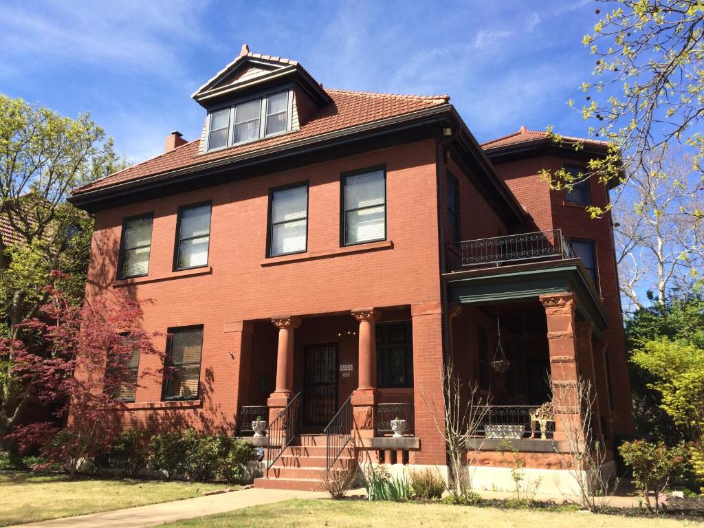
{"type": "Polygon", "coordinates": [[[163,172],[192,167],[209,161],[266,149],[271,146],[287,144],[299,139],[313,138],[328,132],[345,130],[357,125],[448,104],[450,100],[448,95],[376,94],[339,89],[325,89],[325,92],[332,98],[333,103],[319,108],[318,111],[310,116],[307,122],[301,125],[300,130],[202,154],[198,153],[200,139],[196,139],[172,151],[156,156],[156,158],[132,165],[132,167],[115,172],[102,180],[79,187],[73,191],[73,194],[82,194],[87,191],[111,187],[115,184],[133,182],[163,172]]]}

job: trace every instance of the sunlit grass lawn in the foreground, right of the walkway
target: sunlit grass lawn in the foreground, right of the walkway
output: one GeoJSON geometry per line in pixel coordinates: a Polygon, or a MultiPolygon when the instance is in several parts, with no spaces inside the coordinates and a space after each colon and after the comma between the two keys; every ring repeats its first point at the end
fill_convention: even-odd
{"type": "Polygon", "coordinates": [[[253,506],[232,513],[163,524],[166,528],[246,527],[327,528],[681,528],[703,526],[678,520],[616,517],[580,512],[500,510],[444,504],[389,503],[367,501],[286,501],[253,506]]]}

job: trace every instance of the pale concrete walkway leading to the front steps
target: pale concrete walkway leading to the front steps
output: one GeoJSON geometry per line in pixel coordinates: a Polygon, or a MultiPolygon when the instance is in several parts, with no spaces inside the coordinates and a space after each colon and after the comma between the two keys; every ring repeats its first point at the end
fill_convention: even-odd
{"type": "Polygon", "coordinates": [[[163,522],[173,522],[213,513],[239,510],[248,506],[277,503],[287,501],[289,498],[321,498],[325,496],[327,496],[327,493],[314,491],[250,488],[226,494],[187,498],[183,501],[150,504],[137,506],[137,508],[126,508],[125,510],[30,522],[30,524],[15,524],[14,526],[37,528],[139,528],[154,526],[163,522]]]}

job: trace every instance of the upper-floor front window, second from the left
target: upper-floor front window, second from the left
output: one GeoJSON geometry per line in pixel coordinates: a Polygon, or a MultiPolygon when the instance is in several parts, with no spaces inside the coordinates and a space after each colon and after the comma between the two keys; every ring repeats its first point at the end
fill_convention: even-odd
{"type": "Polygon", "coordinates": [[[208,265],[210,203],[180,208],[176,233],[174,270],[208,265]]]}

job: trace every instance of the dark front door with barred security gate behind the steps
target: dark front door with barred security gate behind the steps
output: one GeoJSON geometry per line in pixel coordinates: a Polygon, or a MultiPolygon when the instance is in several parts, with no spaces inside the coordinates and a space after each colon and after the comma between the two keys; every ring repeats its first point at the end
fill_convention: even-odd
{"type": "Polygon", "coordinates": [[[337,411],[337,344],[306,346],[303,424],[327,425],[337,411]]]}

